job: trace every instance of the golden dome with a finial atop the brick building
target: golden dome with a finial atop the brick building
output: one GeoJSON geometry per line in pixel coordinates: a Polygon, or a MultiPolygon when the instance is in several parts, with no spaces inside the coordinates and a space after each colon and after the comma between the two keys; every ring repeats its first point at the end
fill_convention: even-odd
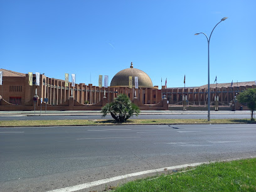
{"type": "Polygon", "coordinates": [[[111,80],[110,87],[129,87],[129,76],[132,76],[132,87],[134,87],[134,77],[138,77],[139,87],[153,87],[153,83],[149,75],[142,72],[142,70],[133,68],[132,63],[130,68],[125,68],[115,74],[111,80]]]}

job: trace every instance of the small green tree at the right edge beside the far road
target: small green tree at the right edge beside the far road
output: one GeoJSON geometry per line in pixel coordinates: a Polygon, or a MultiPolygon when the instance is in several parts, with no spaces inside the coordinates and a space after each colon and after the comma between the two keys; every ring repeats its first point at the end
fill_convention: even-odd
{"type": "Polygon", "coordinates": [[[238,101],[247,105],[251,110],[251,120],[253,120],[253,111],[256,110],[256,88],[248,88],[245,92],[240,93],[238,101]]]}

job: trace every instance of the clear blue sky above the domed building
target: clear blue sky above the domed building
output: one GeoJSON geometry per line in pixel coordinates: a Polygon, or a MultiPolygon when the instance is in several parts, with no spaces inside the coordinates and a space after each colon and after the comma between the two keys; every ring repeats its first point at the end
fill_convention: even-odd
{"type": "Polygon", "coordinates": [[[129,68],[153,85],[256,80],[256,1],[0,0],[0,68],[98,85],[129,68]]]}

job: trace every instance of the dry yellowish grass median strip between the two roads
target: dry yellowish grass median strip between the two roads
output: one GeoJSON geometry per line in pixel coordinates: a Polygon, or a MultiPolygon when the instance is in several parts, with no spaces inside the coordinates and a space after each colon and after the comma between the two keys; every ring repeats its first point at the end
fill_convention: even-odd
{"type": "MultiPolygon", "coordinates": [[[[64,120],[1,120],[1,127],[19,126],[56,126],[56,125],[115,125],[119,124],[115,120],[105,119],[64,119],[64,120]]],[[[256,124],[255,120],[250,119],[129,119],[129,124],[256,124]]],[[[119,124],[120,125],[120,124],[119,124]]]]}

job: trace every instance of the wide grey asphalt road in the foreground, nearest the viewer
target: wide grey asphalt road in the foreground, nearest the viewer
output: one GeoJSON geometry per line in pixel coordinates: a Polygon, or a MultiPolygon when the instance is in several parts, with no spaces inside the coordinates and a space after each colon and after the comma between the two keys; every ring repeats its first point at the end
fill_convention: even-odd
{"type": "Polygon", "coordinates": [[[0,146],[1,191],[48,191],[165,166],[256,156],[256,125],[2,127],[0,146]]]}

